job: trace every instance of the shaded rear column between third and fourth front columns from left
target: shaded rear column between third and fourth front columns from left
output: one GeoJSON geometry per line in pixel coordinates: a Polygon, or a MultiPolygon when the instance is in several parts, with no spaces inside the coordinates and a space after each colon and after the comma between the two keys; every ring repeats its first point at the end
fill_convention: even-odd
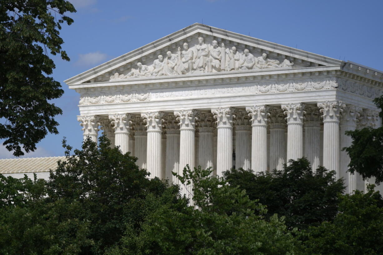
{"type": "Polygon", "coordinates": [[[172,172],[180,170],[180,129],[174,115],[165,116],[166,123],[166,167],[165,179],[180,185],[177,177],[172,172]]]}

